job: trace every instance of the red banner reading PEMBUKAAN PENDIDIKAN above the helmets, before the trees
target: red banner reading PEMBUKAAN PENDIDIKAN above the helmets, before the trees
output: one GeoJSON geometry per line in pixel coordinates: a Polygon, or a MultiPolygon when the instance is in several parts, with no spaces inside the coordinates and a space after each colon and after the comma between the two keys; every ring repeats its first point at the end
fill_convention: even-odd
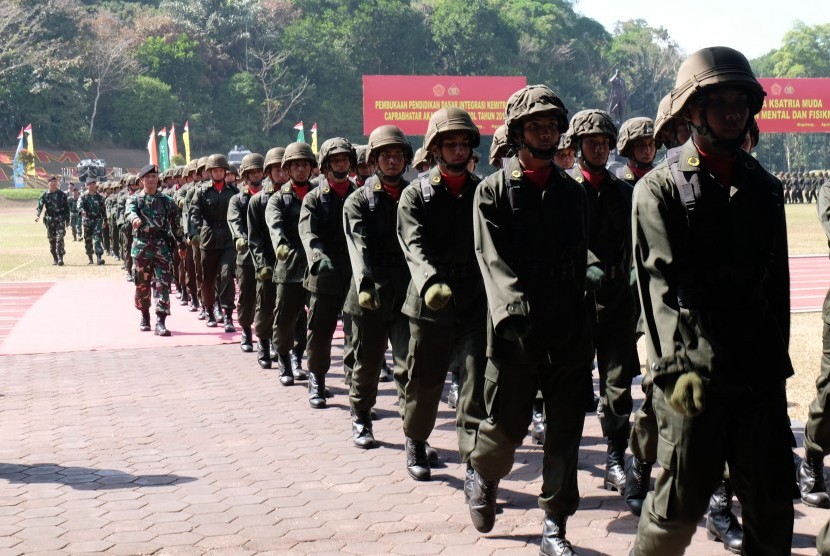
{"type": "Polygon", "coordinates": [[[363,133],[396,125],[404,133],[425,135],[429,117],[445,106],[470,113],[482,135],[504,124],[504,106],[527,84],[525,77],[454,75],[364,75],[363,133]]]}

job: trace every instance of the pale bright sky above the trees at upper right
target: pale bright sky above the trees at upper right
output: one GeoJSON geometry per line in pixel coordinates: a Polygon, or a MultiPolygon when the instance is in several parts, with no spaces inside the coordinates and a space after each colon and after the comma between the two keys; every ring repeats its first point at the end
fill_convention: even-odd
{"type": "Polygon", "coordinates": [[[781,45],[796,20],[830,22],[820,0],[576,0],[574,9],[613,31],[617,21],[644,19],[663,27],[687,54],[706,46],[730,46],[757,58],[781,45]],[[694,8],[692,8],[694,6],[694,8]]]}

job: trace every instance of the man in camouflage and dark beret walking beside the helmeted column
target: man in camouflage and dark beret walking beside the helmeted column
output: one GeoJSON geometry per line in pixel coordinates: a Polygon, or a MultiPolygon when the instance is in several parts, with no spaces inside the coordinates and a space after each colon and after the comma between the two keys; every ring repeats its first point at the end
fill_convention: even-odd
{"type": "Polygon", "coordinates": [[[176,219],[173,200],[158,191],[158,169],[149,164],[138,172],[142,190],[127,199],[124,219],[133,228],[132,258],[135,264],[135,308],[141,311],[139,329],[150,330],[151,285],[155,285],[157,336],[170,336],[170,282],[173,253],[184,250],[184,236],[176,219]]]}

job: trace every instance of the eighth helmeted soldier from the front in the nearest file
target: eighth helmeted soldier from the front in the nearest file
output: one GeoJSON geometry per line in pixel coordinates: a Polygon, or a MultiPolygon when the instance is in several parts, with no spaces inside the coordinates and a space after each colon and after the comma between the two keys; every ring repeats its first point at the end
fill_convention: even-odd
{"type": "Polygon", "coordinates": [[[263,162],[259,153],[249,153],[242,158],[242,189],[228,205],[228,226],[236,247],[236,280],[239,283],[239,299],[236,301],[236,313],[242,328],[239,348],[246,353],[254,350],[251,324],[254,322],[257,287],[254,260],[248,249],[248,204],[251,197],[262,189],[263,162]]]}

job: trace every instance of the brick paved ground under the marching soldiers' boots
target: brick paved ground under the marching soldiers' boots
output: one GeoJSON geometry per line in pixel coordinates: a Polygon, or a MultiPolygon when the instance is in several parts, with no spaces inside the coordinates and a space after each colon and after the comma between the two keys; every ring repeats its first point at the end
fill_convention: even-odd
{"type": "MultiPolygon", "coordinates": [[[[378,407],[382,447],[359,450],[339,366],[325,410],[235,345],[7,356],[0,366],[0,556],[538,553],[539,447],[519,450],[496,527],[481,535],[460,490],[450,410],[442,405],[431,439],[443,463],[417,483],[392,385],[378,407]]],[[[627,554],[636,522],[601,489],[595,415],[582,445],[569,538],[581,555],[627,554]]],[[[830,512],[795,508],[793,553],[815,554],[830,512]]],[[[702,528],[688,553],[727,554],[702,528]]]]}

